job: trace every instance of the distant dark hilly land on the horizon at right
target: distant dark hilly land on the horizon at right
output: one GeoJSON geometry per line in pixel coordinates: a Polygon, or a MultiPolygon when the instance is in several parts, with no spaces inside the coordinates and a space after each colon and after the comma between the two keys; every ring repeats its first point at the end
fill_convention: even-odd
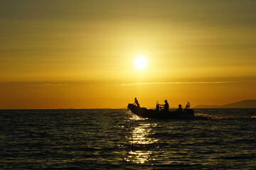
{"type": "Polygon", "coordinates": [[[198,105],[193,108],[256,108],[256,100],[238,101],[236,103],[229,103],[225,105],[198,105]]]}

